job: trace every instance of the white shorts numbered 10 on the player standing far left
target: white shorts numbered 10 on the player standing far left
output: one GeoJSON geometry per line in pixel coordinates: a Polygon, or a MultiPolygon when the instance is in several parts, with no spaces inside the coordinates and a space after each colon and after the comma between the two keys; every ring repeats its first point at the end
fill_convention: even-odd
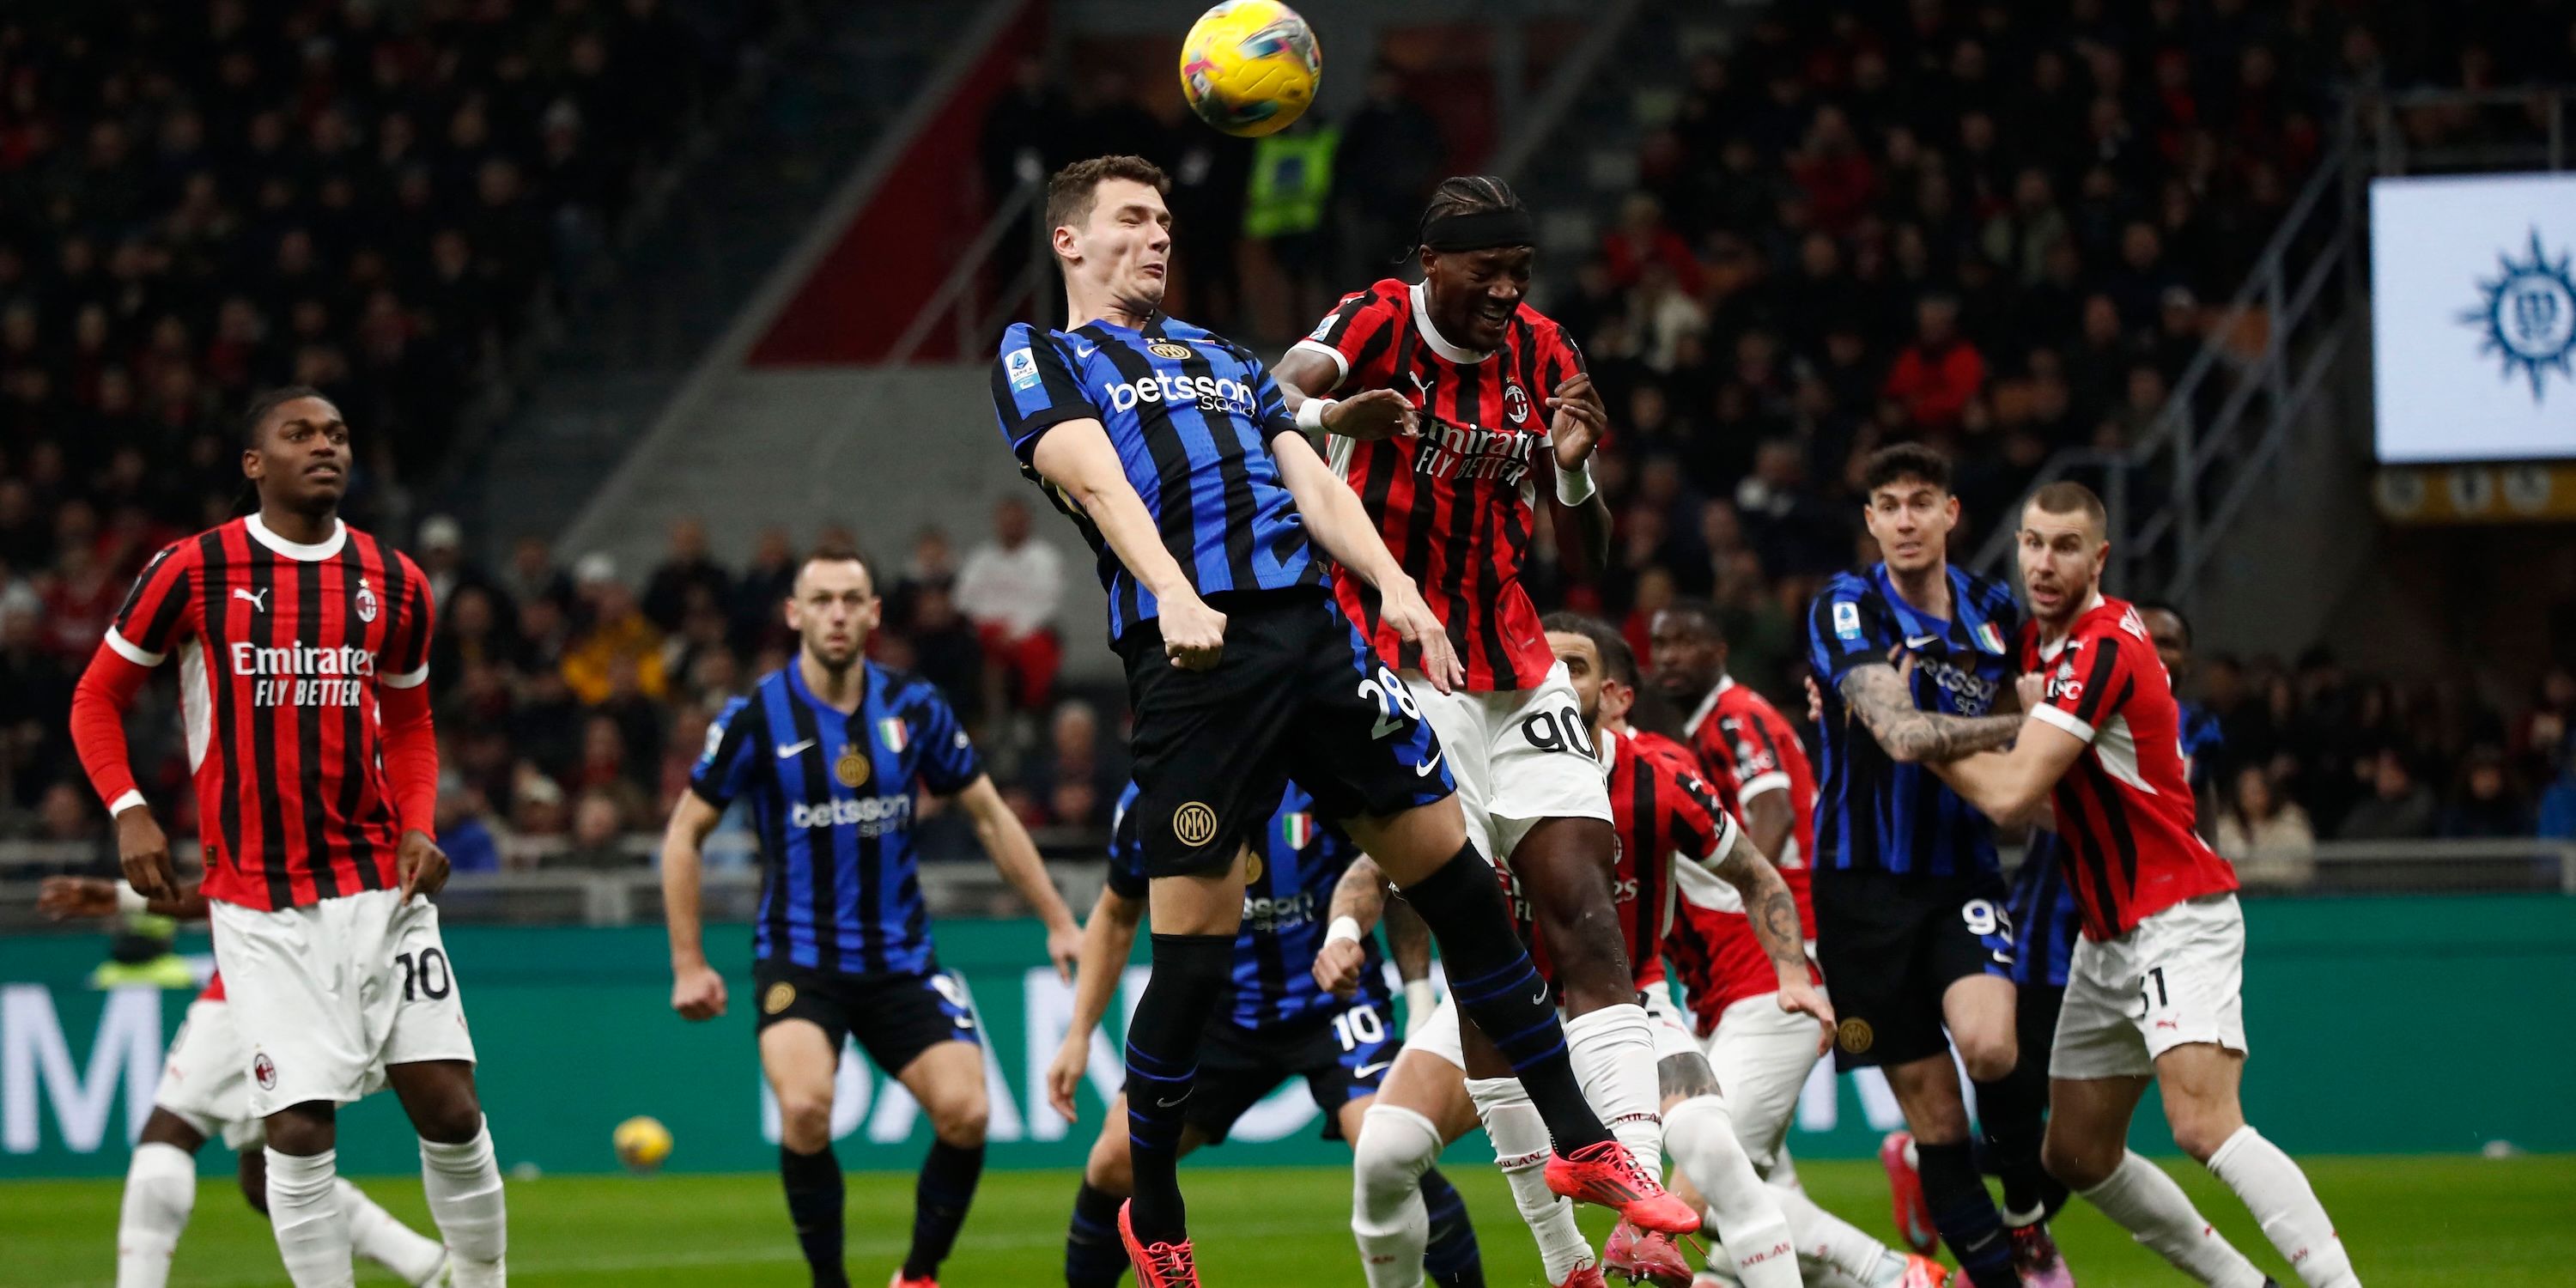
{"type": "Polygon", "coordinates": [[[214,963],[240,1030],[252,1118],[361,1100],[381,1064],[474,1059],[438,907],[371,889],[260,912],[211,904],[214,963]]]}

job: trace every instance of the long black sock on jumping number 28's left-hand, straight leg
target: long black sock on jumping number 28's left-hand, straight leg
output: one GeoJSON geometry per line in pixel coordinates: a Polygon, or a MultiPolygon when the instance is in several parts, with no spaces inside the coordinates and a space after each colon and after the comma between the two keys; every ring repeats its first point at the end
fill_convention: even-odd
{"type": "Polygon", "coordinates": [[[1198,1079],[1198,1036],[1234,981],[1234,935],[1154,935],[1154,976],[1128,1018],[1128,1221],[1144,1244],[1188,1239],[1180,1121],[1198,1079]]]}

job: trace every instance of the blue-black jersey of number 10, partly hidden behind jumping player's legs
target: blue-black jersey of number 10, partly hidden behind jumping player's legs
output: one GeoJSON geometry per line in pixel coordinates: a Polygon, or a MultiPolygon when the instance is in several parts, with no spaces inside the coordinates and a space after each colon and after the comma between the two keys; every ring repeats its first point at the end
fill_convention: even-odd
{"type": "MultiPolygon", "coordinates": [[[[1144,899],[1144,840],[1136,829],[1136,783],[1118,796],[1110,822],[1110,889],[1121,899],[1144,899]]],[[[1360,966],[1360,994],[1340,999],[1314,981],[1314,956],[1324,951],[1332,917],[1332,886],[1342,881],[1360,848],[1314,814],[1306,788],[1288,783],[1280,809],[1252,853],[1252,881],[1244,884],[1244,927],[1234,935],[1236,1028],[1260,1030],[1278,1023],[1340,1015],[1355,1002],[1386,1005],[1386,963],[1378,938],[1360,935],[1368,963],[1360,966]]]]}

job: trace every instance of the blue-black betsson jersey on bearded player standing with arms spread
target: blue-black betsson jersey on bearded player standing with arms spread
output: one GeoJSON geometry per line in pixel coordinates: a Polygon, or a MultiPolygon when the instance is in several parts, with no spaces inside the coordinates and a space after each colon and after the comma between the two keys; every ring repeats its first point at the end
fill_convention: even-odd
{"type": "Polygon", "coordinates": [[[866,667],[842,716],[796,662],[726,703],[688,781],[706,804],[750,799],[760,837],[752,948],[845,974],[933,969],[930,912],[912,853],[917,788],[958,793],[984,775],[948,698],[927,680],[866,667]]]}

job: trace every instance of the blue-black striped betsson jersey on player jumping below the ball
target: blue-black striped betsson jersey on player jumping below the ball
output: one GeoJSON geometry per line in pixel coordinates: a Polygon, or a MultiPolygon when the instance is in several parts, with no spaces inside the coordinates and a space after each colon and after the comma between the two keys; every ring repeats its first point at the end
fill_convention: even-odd
{"type": "MultiPolygon", "coordinates": [[[[1015,322],[992,363],[992,404],[1020,474],[1041,487],[1038,438],[1066,420],[1097,420],[1162,546],[1200,595],[1324,585],[1306,520],[1270,456],[1270,440],[1298,428],[1252,350],[1162,314],[1144,330],[1015,322]]],[[[1046,497],[1100,556],[1110,639],[1157,616],[1154,592],[1118,562],[1100,528],[1054,487],[1046,497]]]]}

